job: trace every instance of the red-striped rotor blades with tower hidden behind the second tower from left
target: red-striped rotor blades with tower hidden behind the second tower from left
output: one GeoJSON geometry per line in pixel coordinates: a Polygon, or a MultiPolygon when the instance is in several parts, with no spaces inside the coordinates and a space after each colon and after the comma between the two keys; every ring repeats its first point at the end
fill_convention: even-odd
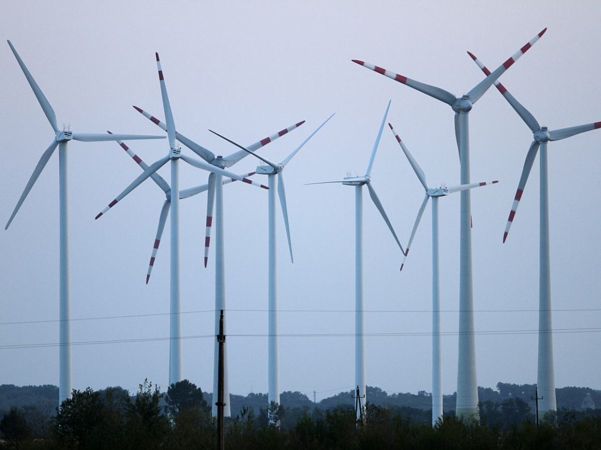
{"type": "MultiPolygon", "coordinates": [[[[111,131],[108,131],[108,133],[111,133],[111,131]]],[[[142,167],[142,170],[148,169],[148,164],[144,163],[144,161],[142,161],[142,158],[140,158],[138,155],[136,155],[132,151],[132,149],[130,149],[129,146],[126,145],[126,143],[121,142],[120,140],[118,140],[117,143],[121,146],[121,148],[123,148],[127,152],[127,154],[132,158],[132,160],[134,160],[138,164],[138,166],[142,167]]],[[[245,183],[253,184],[255,186],[262,187],[264,189],[269,189],[267,186],[264,186],[256,181],[253,181],[253,180],[247,178],[252,175],[255,175],[255,172],[245,173],[244,175],[240,175],[240,176],[243,177],[242,181],[245,183]]],[[[163,206],[160,210],[159,226],[157,227],[156,237],[154,238],[154,245],[153,245],[152,254],[150,256],[150,263],[148,263],[148,272],[146,274],[146,284],[148,284],[148,281],[150,280],[150,274],[151,274],[153,266],[154,266],[154,260],[156,259],[156,254],[157,254],[157,251],[159,250],[160,239],[163,235],[163,229],[165,229],[167,214],[169,214],[169,209],[171,208],[171,187],[169,187],[169,184],[165,181],[165,179],[162,176],[160,176],[156,172],[153,173],[152,175],[150,175],[150,178],[152,178],[153,181],[159,186],[159,188],[165,193],[165,202],[163,202],[163,206]]],[[[237,179],[236,178],[227,178],[227,179],[223,180],[223,184],[224,185],[230,184],[231,182],[234,182],[234,181],[237,181],[237,179]]],[[[208,190],[209,190],[209,184],[203,184],[200,186],[183,189],[180,191],[180,200],[188,199],[189,197],[193,197],[197,194],[203,193],[204,191],[208,191],[208,190]]]]}

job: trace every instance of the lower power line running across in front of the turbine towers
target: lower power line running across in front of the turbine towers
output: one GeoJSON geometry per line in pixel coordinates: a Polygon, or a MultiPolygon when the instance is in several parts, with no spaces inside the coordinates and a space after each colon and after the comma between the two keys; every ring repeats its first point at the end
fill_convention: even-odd
{"type": "MultiPolygon", "coordinates": [[[[552,334],[575,334],[575,333],[594,333],[601,332],[601,328],[558,328],[554,329],[552,334]]],[[[448,331],[441,332],[443,336],[457,336],[460,332],[448,331]]],[[[522,334],[538,334],[536,329],[525,329],[525,330],[484,330],[475,331],[475,335],[522,335],[522,334]]],[[[364,337],[423,337],[432,336],[432,332],[380,332],[380,333],[364,333],[364,337]]],[[[270,334],[228,334],[229,338],[265,338],[270,337],[270,334]]],[[[290,337],[290,338],[333,338],[333,337],[356,337],[355,333],[284,333],[277,334],[277,337],[290,337]]],[[[191,335],[182,336],[182,340],[188,339],[202,339],[202,338],[214,338],[213,334],[206,335],[191,335]]],[[[84,346],[84,345],[97,345],[97,344],[124,344],[124,343],[139,343],[139,342],[156,342],[156,341],[168,341],[169,337],[154,337],[154,338],[131,338],[131,339],[113,339],[113,340],[98,340],[98,341],[76,341],[70,344],[70,346],[84,346]]],[[[41,343],[41,344],[7,344],[0,346],[0,350],[8,349],[31,349],[31,348],[43,348],[43,347],[59,347],[59,343],[41,343]]]]}

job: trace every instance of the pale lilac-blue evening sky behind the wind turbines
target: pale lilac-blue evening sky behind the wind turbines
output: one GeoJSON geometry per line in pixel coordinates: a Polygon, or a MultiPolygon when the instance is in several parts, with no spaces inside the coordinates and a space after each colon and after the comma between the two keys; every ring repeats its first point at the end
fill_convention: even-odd
{"type": "MultiPolygon", "coordinates": [[[[597,46],[601,4],[503,2],[47,2],[7,1],[0,29],[52,104],[59,127],[164,134],[132,105],[163,118],[154,52],[159,52],[175,126],[215,154],[249,145],[301,120],[261,149],[282,160],[331,113],[285,169],[294,263],[281,212],[278,302],[281,391],[317,400],[354,383],[355,196],[338,184],[365,173],[388,100],[388,121],[430,184],[459,184],[453,112],[400,83],[359,67],[362,59],[456,95],[535,34],[546,34],[501,77],[549,128],[601,121],[597,46]]],[[[7,44],[0,45],[0,220],[7,221],[52,128],[7,44]],[[10,136],[13,136],[11,138],[10,136]],[[12,156],[11,156],[12,155],[12,156]],[[2,219],[3,218],[3,219],[2,219]]],[[[496,89],[469,115],[474,320],[478,385],[535,383],[538,320],[538,158],[502,244],[532,136],[496,89]]],[[[148,164],[166,140],[129,142],[148,164]]],[[[600,389],[601,133],[549,145],[551,286],[557,387],[600,389]]],[[[192,155],[187,148],[183,152],[192,155]]],[[[251,172],[252,157],[232,168],[251,172]]],[[[207,173],[181,164],[180,187],[207,173]]],[[[164,197],[150,180],[99,220],[96,214],[139,167],[114,142],[69,145],[73,387],[145,378],[168,384],[169,221],[150,283],[145,275],[164,197]],[[106,343],[106,341],[118,341],[106,343]]],[[[169,181],[169,169],[159,173],[169,181]]],[[[266,181],[259,175],[255,179],[266,181]]],[[[423,188],[394,136],[383,131],[373,187],[403,245],[423,188]]],[[[267,193],[224,188],[225,285],[230,392],[267,390],[267,193]]],[[[457,386],[459,195],[440,205],[443,390],[457,386]]],[[[183,376],[212,390],[215,248],[204,268],[206,194],[180,204],[183,376]]],[[[431,209],[403,272],[402,255],[364,193],[367,384],[386,392],[431,391],[431,209]]],[[[0,232],[0,383],[58,385],[58,152],[22,208],[0,232]],[[29,347],[23,348],[24,344],[29,347]],[[53,345],[47,345],[53,344],[53,345]],[[14,346],[19,346],[15,348],[14,346]]]]}

